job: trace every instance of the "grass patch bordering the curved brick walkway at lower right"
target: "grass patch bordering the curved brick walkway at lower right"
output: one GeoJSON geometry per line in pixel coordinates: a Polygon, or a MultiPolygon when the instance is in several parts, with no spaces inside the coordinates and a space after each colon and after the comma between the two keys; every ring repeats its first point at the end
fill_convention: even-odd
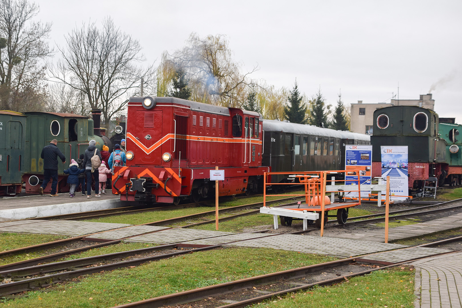
{"type": "Polygon", "coordinates": [[[282,300],[263,302],[252,307],[414,307],[414,270],[394,267],[375,271],[365,276],[354,277],[330,287],[315,287],[311,290],[286,296],[282,300]]]}

